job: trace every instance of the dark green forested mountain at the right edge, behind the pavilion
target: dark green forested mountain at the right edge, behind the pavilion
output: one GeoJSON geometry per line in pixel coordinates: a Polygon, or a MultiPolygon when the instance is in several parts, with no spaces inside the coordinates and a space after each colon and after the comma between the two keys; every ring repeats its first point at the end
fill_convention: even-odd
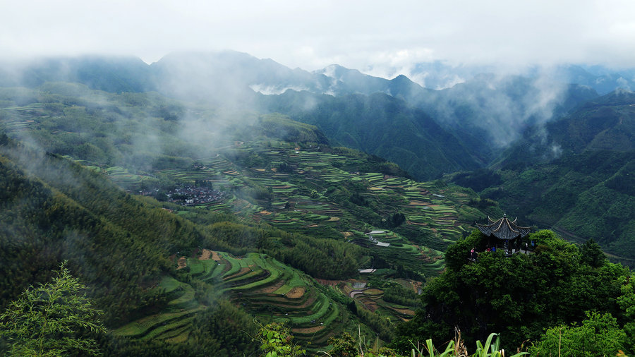
{"type": "Polygon", "coordinates": [[[593,238],[632,264],[635,95],[623,90],[529,128],[490,170],[451,180],[574,241],[593,238]]]}

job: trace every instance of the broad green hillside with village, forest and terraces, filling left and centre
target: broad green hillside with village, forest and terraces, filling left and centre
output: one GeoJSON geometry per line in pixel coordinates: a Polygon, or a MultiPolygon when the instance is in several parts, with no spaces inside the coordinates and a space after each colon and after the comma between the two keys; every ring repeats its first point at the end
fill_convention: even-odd
{"type": "Polygon", "coordinates": [[[252,317],[311,349],[360,326],[389,341],[449,243],[500,214],[279,114],[216,126],[212,109],[68,83],[1,95],[0,308],[68,260],[109,353],[250,351],[252,317]]]}

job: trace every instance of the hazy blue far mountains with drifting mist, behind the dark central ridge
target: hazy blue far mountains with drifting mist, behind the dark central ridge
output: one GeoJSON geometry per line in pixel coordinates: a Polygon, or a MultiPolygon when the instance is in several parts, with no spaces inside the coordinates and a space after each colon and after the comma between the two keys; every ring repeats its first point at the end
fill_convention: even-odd
{"type": "Polygon", "coordinates": [[[337,81],[337,90],[332,92],[338,96],[382,92],[421,109],[470,147],[471,156],[481,166],[520,138],[525,128],[567,114],[586,100],[598,97],[583,85],[519,75],[483,73],[444,90],[429,90],[404,75],[383,80],[340,66],[330,66],[319,73],[337,81]]]}

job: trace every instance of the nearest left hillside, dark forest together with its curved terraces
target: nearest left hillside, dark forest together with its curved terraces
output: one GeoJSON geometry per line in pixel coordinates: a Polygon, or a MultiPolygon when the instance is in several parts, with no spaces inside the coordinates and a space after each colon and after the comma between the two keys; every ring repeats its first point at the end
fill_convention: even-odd
{"type": "MultiPolygon", "coordinates": [[[[296,255],[294,265],[307,270],[315,270],[315,265],[337,264],[337,258],[326,255],[313,255],[309,262],[306,256],[284,252],[286,244],[291,248],[301,240],[328,253],[315,238],[285,234],[262,224],[258,228],[239,224],[231,218],[227,221],[230,216],[216,217],[212,213],[208,214],[215,217],[215,224],[194,224],[154,200],[124,193],[104,174],[56,155],[30,150],[6,136],[3,143],[0,147],[4,187],[0,210],[3,308],[28,284],[47,280],[59,261],[68,260],[73,273],[90,286],[89,297],[104,311],[104,323],[114,330],[109,337],[111,341],[104,342],[107,349],[114,349],[110,353],[133,353],[152,341],[155,353],[164,350],[189,354],[199,351],[195,341],[206,334],[220,338],[220,333],[231,336],[241,334],[241,330],[253,330],[255,325],[246,313],[265,321],[274,317],[269,310],[258,308],[269,296],[262,289],[272,290],[275,296],[286,294],[291,299],[286,305],[281,301],[280,306],[289,305],[288,310],[295,317],[285,320],[281,314],[280,321],[293,327],[298,338],[303,329],[313,328],[315,320],[320,320],[322,332],[306,332],[306,341],[312,341],[316,347],[323,346],[332,334],[352,331],[360,324],[365,333],[373,333],[365,327],[366,323],[373,323],[371,315],[346,312],[346,303],[352,303],[350,298],[267,258],[296,255]],[[246,234],[258,237],[262,243],[261,248],[252,246],[252,249],[267,253],[250,253],[241,258],[218,253],[222,258],[217,260],[209,260],[209,255],[207,260],[187,259],[184,270],[179,269],[180,260],[174,258],[179,252],[195,254],[198,246],[244,254],[241,252],[250,245],[238,244],[237,238],[246,234]],[[248,267],[250,272],[246,272],[248,267]],[[276,289],[272,289],[274,286],[276,289]],[[246,298],[249,306],[239,303],[246,298]],[[224,299],[241,309],[226,305],[224,299]],[[301,306],[294,308],[298,303],[301,306]],[[229,327],[229,332],[210,332],[200,327],[203,318],[200,314],[214,320],[234,315],[236,325],[229,327]]],[[[361,249],[338,242],[328,246],[332,253],[343,250],[347,262],[355,262],[361,249]]],[[[342,264],[338,267],[344,268],[342,264]]],[[[340,274],[346,272],[344,268],[340,274]]],[[[356,269],[353,274],[357,274],[356,269]]],[[[375,324],[373,329],[389,338],[391,327],[384,325],[385,322],[375,324]]],[[[248,339],[243,336],[238,340],[239,344],[229,346],[236,349],[243,346],[249,351],[248,339]]],[[[214,351],[214,345],[208,344],[203,350],[214,351]]]]}

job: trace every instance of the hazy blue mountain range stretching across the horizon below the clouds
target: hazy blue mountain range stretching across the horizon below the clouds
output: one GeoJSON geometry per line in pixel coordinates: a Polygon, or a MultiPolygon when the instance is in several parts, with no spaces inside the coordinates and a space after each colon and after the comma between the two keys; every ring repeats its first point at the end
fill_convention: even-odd
{"type": "MultiPolygon", "coordinates": [[[[429,179],[486,166],[529,126],[567,114],[598,93],[631,87],[635,77],[635,70],[616,72],[598,66],[561,66],[548,73],[534,69],[525,76],[492,74],[493,69],[421,63],[413,73],[425,78],[426,85],[444,88],[433,90],[404,75],[388,80],[338,65],[308,72],[231,51],[169,54],[150,65],[134,57],[80,56],[5,63],[0,66],[0,86],[78,82],[106,92],[156,91],[192,102],[280,111],[322,128],[334,144],[387,157],[417,178],[429,179]],[[310,95],[284,95],[288,91],[310,95]],[[338,115],[325,114],[348,101],[369,113],[377,105],[364,105],[374,99],[354,96],[376,93],[389,97],[373,98],[382,98],[399,110],[400,118],[408,118],[384,121],[381,139],[373,133],[371,118],[334,126],[338,115]],[[292,98],[296,102],[291,105],[292,98]],[[320,104],[320,115],[313,111],[315,104],[320,104]],[[349,128],[342,132],[343,126],[355,127],[354,133],[349,128]],[[404,140],[403,133],[413,137],[404,140]],[[421,140],[428,143],[420,145],[421,140]],[[449,142],[454,144],[448,146],[449,142]],[[438,147],[446,147],[444,155],[434,154],[438,147]]],[[[356,109],[345,111],[351,116],[356,109]]]]}

